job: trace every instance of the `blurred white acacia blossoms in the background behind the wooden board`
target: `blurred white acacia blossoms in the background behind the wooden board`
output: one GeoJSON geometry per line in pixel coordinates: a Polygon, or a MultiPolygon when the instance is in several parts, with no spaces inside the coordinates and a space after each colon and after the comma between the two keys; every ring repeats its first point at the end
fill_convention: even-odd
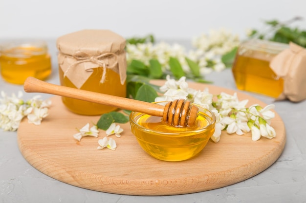
{"type": "Polygon", "coordinates": [[[209,35],[194,37],[192,44],[195,49],[186,52],[185,48],[177,43],[171,45],[166,42],[153,44],[151,42],[127,44],[127,62],[132,60],[142,61],[149,65],[150,59],[157,59],[163,71],[169,70],[169,59],[175,57],[180,62],[183,70],[189,72],[186,57],[196,62],[202,75],[212,71],[225,69],[221,56],[230,52],[239,44],[238,35],[233,35],[224,29],[212,30],[209,35]]]}

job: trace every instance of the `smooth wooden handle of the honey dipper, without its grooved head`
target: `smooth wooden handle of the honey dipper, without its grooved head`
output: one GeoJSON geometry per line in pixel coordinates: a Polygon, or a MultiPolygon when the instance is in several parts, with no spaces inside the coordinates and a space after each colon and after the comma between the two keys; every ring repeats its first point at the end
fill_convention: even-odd
{"type": "Polygon", "coordinates": [[[119,96],[113,96],[109,94],[90,92],[86,90],[55,85],[36,79],[34,77],[28,77],[25,80],[23,89],[25,92],[41,92],[55,94],[59,96],[66,96],[74,99],[81,99],[88,102],[104,104],[119,109],[142,112],[153,116],[162,116],[164,111],[164,106],[161,105],[134,99],[128,99],[119,96]]]}

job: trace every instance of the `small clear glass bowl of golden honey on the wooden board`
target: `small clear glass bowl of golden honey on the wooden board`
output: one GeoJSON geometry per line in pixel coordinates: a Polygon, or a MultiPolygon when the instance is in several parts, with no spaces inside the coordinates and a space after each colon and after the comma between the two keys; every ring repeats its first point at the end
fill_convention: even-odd
{"type": "Polygon", "coordinates": [[[170,162],[190,159],[205,148],[215,132],[215,114],[197,107],[196,123],[189,127],[170,126],[161,117],[133,111],[130,114],[131,132],[141,148],[156,159],[170,162]]]}

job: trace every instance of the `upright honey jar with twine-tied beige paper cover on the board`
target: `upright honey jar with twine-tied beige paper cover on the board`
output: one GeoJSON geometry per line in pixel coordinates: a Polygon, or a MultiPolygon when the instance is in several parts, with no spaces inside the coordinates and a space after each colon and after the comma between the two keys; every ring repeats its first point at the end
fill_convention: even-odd
{"type": "MultiPolygon", "coordinates": [[[[57,39],[61,85],[126,97],[126,41],[109,30],[82,30],[57,39]]],[[[115,107],[62,97],[72,112],[100,115],[115,107]]]]}

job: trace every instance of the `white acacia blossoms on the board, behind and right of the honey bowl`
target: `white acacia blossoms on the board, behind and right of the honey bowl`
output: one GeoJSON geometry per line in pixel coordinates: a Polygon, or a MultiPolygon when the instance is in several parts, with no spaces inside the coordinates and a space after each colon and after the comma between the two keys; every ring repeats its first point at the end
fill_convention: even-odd
{"type": "Polygon", "coordinates": [[[246,107],[248,100],[239,101],[237,93],[230,95],[221,92],[214,99],[214,95],[209,93],[208,89],[200,91],[189,88],[185,77],[175,81],[167,75],[166,79],[165,84],[160,87],[164,94],[156,97],[155,102],[186,99],[214,112],[216,129],[211,137],[214,142],[219,142],[222,130],[226,130],[228,134],[238,135],[251,132],[254,141],[259,140],[261,136],[269,139],[276,136],[275,130],[270,126],[271,119],[275,116],[271,111],[274,108],[273,104],[264,108],[257,104],[246,107]]]}

